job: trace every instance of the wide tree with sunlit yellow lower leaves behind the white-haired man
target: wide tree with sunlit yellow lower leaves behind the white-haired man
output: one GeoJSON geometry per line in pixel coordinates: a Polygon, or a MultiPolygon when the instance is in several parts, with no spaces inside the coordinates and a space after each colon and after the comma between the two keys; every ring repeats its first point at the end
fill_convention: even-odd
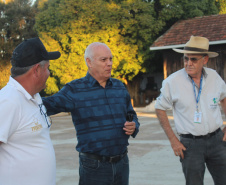
{"type": "Polygon", "coordinates": [[[155,70],[159,62],[149,47],[176,21],[218,12],[214,0],[44,0],[39,11],[39,36],[49,50],[62,54],[51,62],[55,80],[47,86],[48,94],[57,91],[50,86],[61,88],[86,74],[83,55],[92,42],[111,48],[112,75],[126,83],[155,70]]]}

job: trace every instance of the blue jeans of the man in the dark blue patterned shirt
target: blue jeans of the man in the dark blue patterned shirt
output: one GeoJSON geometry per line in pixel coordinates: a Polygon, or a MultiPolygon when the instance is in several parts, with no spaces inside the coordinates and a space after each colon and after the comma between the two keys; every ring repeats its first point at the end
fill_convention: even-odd
{"type": "Polygon", "coordinates": [[[129,160],[127,154],[118,162],[101,162],[79,156],[79,185],[128,185],[129,160]]]}

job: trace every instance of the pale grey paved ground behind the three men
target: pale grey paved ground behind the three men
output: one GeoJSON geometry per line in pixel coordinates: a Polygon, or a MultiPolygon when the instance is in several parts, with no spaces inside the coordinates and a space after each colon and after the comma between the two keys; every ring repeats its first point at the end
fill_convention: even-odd
{"type": "MultiPolygon", "coordinates": [[[[130,138],[130,185],[183,185],[184,176],[179,158],[174,156],[170,143],[154,113],[137,110],[141,123],[135,139],[130,138]]],[[[173,126],[173,117],[169,112],[173,126]]],[[[78,152],[76,132],[71,116],[62,114],[52,117],[51,138],[57,162],[57,185],[78,184],[78,152]]],[[[213,185],[206,170],[205,185],[213,185]]]]}

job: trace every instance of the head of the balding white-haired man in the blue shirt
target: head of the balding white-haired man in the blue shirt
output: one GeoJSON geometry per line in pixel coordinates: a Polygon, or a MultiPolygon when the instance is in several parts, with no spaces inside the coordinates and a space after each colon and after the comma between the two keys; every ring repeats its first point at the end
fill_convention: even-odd
{"type": "Polygon", "coordinates": [[[89,62],[90,74],[97,81],[106,81],[111,77],[112,54],[108,47],[98,46],[93,50],[93,59],[89,62]]]}

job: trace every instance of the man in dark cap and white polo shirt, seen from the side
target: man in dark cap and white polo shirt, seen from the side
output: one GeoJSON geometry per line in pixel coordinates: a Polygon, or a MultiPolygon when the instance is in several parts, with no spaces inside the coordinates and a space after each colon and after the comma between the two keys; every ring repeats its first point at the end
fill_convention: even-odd
{"type": "Polygon", "coordinates": [[[0,91],[0,184],[55,185],[56,161],[51,122],[39,92],[46,87],[49,60],[39,38],[23,41],[13,51],[11,77],[0,91]]]}

